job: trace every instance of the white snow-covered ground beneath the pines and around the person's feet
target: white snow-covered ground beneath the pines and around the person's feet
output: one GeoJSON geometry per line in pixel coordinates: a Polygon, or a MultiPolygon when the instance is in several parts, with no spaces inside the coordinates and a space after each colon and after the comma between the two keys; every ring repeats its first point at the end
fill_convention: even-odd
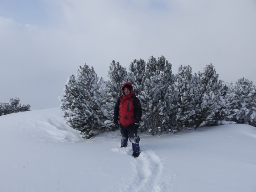
{"type": "Polygon", "coordinates": [[[118,131],[90,140],[59,108],[0,116],[0,191],[256,191],[256,128],[231,124],[140,134],[141,154],[118,131]]]}

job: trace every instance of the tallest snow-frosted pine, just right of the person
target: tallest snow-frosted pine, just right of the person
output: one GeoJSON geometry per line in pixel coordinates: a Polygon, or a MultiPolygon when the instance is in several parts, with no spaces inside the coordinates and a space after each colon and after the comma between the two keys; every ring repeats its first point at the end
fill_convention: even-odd
{"type": "Polygon", "coordinates": [[[169,123],[168,86],[172,83],[172,65],[163,57],[153,56],[146,63],[142,91],[141,129],[152,135],[166,131],[169,123]]]}

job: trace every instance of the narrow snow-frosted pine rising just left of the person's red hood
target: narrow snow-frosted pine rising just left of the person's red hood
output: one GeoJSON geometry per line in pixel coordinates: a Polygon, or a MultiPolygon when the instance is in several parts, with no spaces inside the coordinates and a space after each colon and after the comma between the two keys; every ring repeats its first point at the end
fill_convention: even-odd
{"type": "Polygon", "coordinates": [[[108,75],[110,80],[106,83],[104,95],[106,99],[106,112],[108,116],[112,118],[111,120],[113,120],[116,101],[122,95],[122,85],[128,78],[126,69],[123,68],[119,62],[113,60],[110,65],[108,75]]]}

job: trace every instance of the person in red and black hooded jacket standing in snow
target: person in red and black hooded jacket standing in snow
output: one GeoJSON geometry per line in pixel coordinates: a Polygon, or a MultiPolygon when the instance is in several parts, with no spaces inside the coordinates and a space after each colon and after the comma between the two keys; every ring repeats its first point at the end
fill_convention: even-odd
{"type": "Polygon", "coordinates": [[[129,139],[133,146],[133,157],[137,158],[140,155],[138,128],[142,116],[141,104],[134,95],[132,83],[125,82],[122,92],[115,105],[114,123],[117,129],[118,121],[120,123],[121,147],[126,147],[129,139]]]}

